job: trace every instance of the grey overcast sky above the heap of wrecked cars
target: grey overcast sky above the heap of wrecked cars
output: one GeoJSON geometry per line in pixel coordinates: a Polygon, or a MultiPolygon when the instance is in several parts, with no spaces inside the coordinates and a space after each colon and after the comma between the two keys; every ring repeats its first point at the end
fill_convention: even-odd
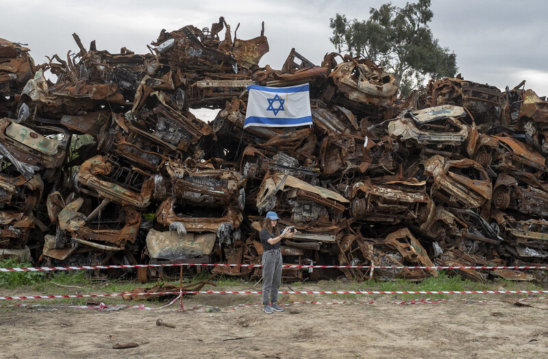
{"type": "MultiPolygon", "coordinates": [[[[185,25],[211,27],[219,16],[237,35],[249,39],[260,35],[261,22],[270,52],[261,66],[280,69],[292,47],[315,64],[325,53],[335,51],[329,37],[329,18],[336,13],[364,20],[369,8],[388,1],[70,1],[0,0],[0,38],[28,44],[35,62],[57,53],[66,58],[78,52],[73,32],[89,48],[117,53],[127,47],[147,53],[162,29],[173,31],[185,25]]],[[[406,1],[392,1],[404,6],[406,1]]],[[[442,47],[457,55],[464,79],[497,86],[525,87],[548,95],[548,1],[433,0],[434,18],[429,24],[442,47]]]]}

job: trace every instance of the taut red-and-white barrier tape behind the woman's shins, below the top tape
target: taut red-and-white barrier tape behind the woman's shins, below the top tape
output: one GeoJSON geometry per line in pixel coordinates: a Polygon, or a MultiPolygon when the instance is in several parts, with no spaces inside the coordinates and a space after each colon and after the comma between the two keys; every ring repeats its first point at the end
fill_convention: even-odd
{"type": "MultiPolygon", "coordinates": [[[[278,294],[521,294],[548,293],[548,290],[280,290],[278,294]]],[[[75,295],[24,295],[0,297],[8,299],[51,299],[51,298],[95,298],[121,297],[132,295],[183,295],[183,294],[262,294],[260,290],[179,290],[179,292],[155,293],[113,293],[113,294],[75,294],[75,295]]]]}

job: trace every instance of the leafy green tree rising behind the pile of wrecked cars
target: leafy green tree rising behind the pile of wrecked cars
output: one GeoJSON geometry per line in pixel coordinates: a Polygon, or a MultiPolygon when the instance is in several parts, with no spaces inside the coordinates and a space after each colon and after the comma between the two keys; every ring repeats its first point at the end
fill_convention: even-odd
{"type": "Polygon", "coordinates": [[[366,21],[348,21],[340,14],[330,19],[333,37],[329,40],[339,52],[343,49],[382,66],[395,75],[402,95],[426,76],[455,76],[457,55],[441,47],[428,26],[434,16],[430,0],[407,3],[404,8],[385,3],[378,10],[370,8],[369,14],[366,21]]]}

